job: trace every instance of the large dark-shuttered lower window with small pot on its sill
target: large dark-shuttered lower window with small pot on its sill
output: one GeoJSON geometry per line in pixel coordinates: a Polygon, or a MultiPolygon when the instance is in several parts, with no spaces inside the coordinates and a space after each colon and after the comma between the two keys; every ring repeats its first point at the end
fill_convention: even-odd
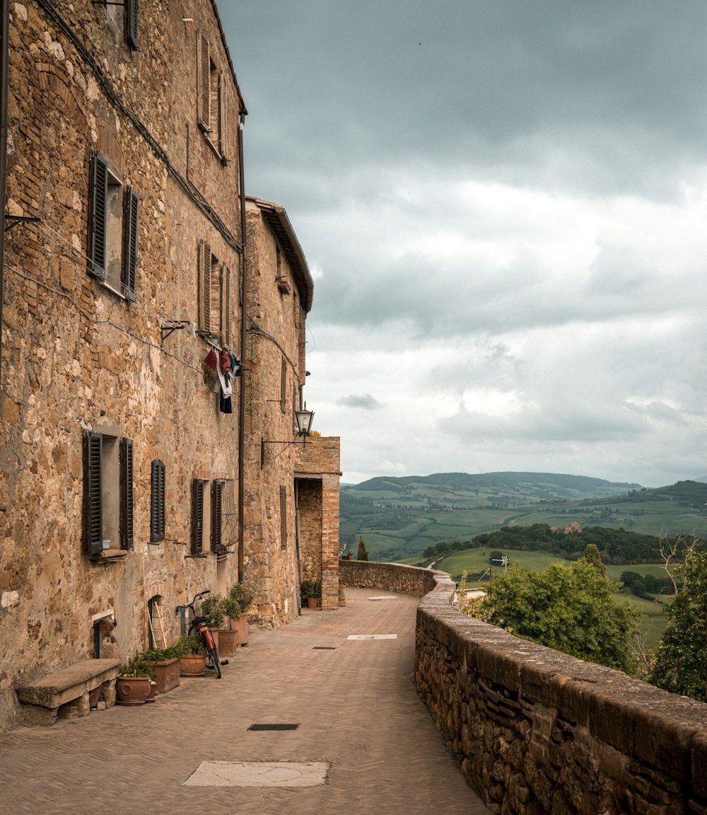
{"type": "Polygon", "coordinates": [[[86,431],[84,552],[133,548],[133,442],[86,431]]]}

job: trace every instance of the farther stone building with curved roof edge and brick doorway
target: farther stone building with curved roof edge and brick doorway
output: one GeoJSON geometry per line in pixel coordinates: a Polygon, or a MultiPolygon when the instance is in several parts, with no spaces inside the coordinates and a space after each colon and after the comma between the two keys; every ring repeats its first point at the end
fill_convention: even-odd
{"type": "Polygon", "coordinates": [[[248,196],[246,224],[245,551],[259,619],[277,624],[297,614],[303,578],[338,607],[339,438],[296,434],[314,284],[288,215],[248,196]]]}

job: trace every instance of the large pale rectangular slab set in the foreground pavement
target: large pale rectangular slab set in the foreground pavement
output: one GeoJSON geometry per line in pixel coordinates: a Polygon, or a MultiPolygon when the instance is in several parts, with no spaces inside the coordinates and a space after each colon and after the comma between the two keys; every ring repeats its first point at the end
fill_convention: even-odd
{"type": "Polygon", "coordinates": [[[182,786],[317,786],[328,761],[202,761],[182,786]]]}

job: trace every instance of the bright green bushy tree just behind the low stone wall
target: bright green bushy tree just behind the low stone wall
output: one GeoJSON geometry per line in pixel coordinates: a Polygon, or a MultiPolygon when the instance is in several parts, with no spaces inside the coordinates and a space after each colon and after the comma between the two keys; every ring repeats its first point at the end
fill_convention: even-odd
{"type": "Polygon", "coordinates": [[[542,571],[521,571],[516,564],[494,580],[472,614],[517,637],[634,673],[630,642],[640,613],[614,599],[618,590],[584,558],[542,571]]]}

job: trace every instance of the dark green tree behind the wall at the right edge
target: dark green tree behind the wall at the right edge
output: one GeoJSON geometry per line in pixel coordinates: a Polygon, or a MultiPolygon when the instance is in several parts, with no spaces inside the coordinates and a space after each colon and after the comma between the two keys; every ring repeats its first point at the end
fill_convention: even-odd
{"type": "Polygon", "coordinates": [[[677,571],[683,588],[665,606],[670,623],[649,681],[707,702],[707,553],[688,551],[677,571]]]}

